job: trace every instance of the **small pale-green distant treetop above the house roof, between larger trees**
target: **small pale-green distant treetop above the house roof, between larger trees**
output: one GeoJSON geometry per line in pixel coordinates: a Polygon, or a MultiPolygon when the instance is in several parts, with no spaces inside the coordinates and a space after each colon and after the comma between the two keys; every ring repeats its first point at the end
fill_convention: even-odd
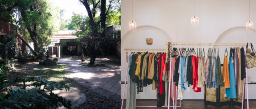
{"type": "Polygon", "coordinates": [[[73,16],[71,17],[71,21],[67,25],[68,30],[80,29],[81,24],[82,24],[82,19],[83,19],[82,15],[75,14],[73,12],[73,16]]]}

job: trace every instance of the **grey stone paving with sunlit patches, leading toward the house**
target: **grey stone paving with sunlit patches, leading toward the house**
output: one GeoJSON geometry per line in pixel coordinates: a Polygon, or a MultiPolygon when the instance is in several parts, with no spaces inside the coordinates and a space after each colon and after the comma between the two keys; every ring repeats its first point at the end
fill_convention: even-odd
{"type": "MultiPolygon", "coordinates": [[[[107,58],[100,58],[106,66],[85,67],[81,66],[81,60],[72,60],[68,58],[59,58],[58,63],[65,63],[70,71],[67,71],[66,77],[69,77],[80,84],[92,89],[94,92],[116,101],[121,99],[121,66],[104,63],[107,58]]],[[[106,61],[107,62],[107,61],[106,61]]]]}

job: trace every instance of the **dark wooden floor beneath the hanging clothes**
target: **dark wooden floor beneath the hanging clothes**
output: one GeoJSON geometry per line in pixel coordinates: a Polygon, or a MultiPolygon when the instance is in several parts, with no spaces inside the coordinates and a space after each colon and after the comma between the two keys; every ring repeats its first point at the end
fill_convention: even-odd
{"type": "MultiPolygon", "coordinates": [[[[246,104],[246,101],[245,101],[246,104]]],[[[142,99],[137,99],[136,100],[136,105],[137,106],[156,106],[156,100],[142,100],[142,99]]],[[[172,105],[172,101],[170,103],[170,106],[172,105]]],[[[177,102],[177,106],[179,106],[180,103],[179,101],[177,102]]],[[[125,109],[126,106],[126,102],[124,100],[123,102],[123,108],[125,109]]],[[[142,109],[142,108],[156,108],[156,107],[136,107],[137,109],[142,109]]],[[[158,109],[160,108],[167,108],[167,107],[158,107],[158,109]]],[[[181,107],[177,107],[177,108],[184,108],[184,109],[191,109],[191,108],[209,108],[209,109],[213,109],[216,108],[214,106],[207,106],[204,107],[204,100],[182,100],[181,101],[181,107]]],[[[231,109],[231,108],[241,108],[240,106],[222,106],[221,108],[223,109],[231,109]]],[[[247,109],[247,106],[245,105],[245,108],[247,109]]],[[[249,108],[250,109],[256,109],[256,100],[249,100],[249,108]]],[[[172,109],[172,107],[170,107],[170,109],[172,109]]]]}

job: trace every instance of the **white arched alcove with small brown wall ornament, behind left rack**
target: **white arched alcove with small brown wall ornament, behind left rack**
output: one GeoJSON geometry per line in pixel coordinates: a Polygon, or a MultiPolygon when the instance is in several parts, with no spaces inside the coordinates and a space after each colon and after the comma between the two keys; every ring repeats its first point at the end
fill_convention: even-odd
{"type": "MultiPolygon", "coordinates": [[[[165,42],[170,42],[171,37],[168,36],[166,32],[164,32],[162,29],[159,29],[157,27],[152,26],[141,26],[137,27],[136,32],[127,32],[122,37],[122,45],[121,45],[121,81],[125,81],[126,76],[126,70],[127,70],[127,63],[126,63],[126,51],[124,49],[127,49],[130,47],[133,49],[166,49],[165,42]],[[146,38],[152,38],[153,44],[147,45],[146,38]]],[[[137,52],[137,51],[133,51],[137,52]]],[[[157,51],[151,51],[151,52],[157,52],[157,51]]],[[[161,51],[163,52],[163,51],[161,51]]],[[[123,90],[123,85],[122,89],[123,90]]],[[[138,99],[155,99],[155,92],[156,90],[152,90],[152,85],[148,85],[146,88],[143,89],[143,91],[146,91],[147,93],[139,93],[137,94],[138,99]]],[[[123,91],[121,91],[123,92],[123,91]]],[[[126,98],[126,94],[125,94],[126,98]]]]}

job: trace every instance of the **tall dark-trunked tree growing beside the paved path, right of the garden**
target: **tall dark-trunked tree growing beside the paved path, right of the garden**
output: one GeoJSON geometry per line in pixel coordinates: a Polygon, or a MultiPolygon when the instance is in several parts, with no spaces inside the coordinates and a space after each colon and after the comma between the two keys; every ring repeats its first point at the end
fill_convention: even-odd
{"type": "Polygon", "coordinates": [[[84,21],[84,25],[89,28],[82,28],[82,31],[77,32],[77,34],[81,35],[81,41],[84,41],[85,45],[90,45],[90,52],[93,53],[90,53],[89,64],[94,64],[98,51],[104,54],[104,51],[109,48],[106,45],[115,46],[114,41],[107,41],[109,34],[106,34],[106,19],[109,14],[121,7],[121,1],[109,0],[108,5],[106,5],[106,0],[80,0],[80,2],[85,6],[88,13],[88,19],[84,21]],[[100,12],[99,17],[96,16],[97,12],[100,12]]]}

